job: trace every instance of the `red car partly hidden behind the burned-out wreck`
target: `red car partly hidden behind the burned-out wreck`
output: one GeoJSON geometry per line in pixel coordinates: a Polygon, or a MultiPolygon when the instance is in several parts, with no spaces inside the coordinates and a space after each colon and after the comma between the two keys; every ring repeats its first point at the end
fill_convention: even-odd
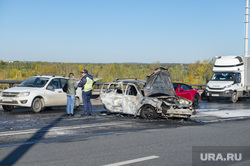
{"type": "Polygon", "coordinates": [[[199,89],[194,89],[191,86],[183,83],[173,83],[174,90],[177,96],[191,100],[194,106],[198,106],[201,101],[201,95],[198,92],[199,89]]]}

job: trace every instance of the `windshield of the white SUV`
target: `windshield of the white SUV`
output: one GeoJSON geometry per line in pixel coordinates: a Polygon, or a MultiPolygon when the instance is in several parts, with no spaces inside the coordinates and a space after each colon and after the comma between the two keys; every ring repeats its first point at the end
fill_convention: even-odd
{"type": "Polygon", "coordinates": [[[45,84],[49,81],[49,78],[46,77],[31,77],[24,82],[22,82],[18,87],[44,87],[45,84]]]}

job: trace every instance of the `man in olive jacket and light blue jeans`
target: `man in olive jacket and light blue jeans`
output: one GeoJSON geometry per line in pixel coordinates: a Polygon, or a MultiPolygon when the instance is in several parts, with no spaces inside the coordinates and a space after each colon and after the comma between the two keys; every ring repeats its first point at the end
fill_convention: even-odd
{"type": "Polygon", "coordinates": [[[68,116],[74,116],[74,106],[75,106],[75,96],[77,89],[77,82],[75,80],[74,74],[69,73],[69,79],[67,81],[67,114],[68,116]]]}

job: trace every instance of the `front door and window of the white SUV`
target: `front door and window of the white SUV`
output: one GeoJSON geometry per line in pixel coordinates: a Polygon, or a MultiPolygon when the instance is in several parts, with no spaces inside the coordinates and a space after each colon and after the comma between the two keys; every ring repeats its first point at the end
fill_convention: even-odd
{"type": "Polygon", "coordinates": [[[45,106],[61,106],[67,104],[67,96],[62,91],[59,78],[50,81],[45,92],[45,106]]]}

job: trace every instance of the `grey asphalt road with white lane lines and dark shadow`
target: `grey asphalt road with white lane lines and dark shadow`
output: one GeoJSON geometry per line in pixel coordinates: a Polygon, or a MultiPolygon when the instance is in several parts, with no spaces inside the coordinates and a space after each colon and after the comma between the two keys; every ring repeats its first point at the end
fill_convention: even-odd
{"type": "Polygon", "coordinates": [[[189,120],[106,114],[98,100],[92,102],[90,117],[80,116],[82,107],[73,118],[65,107],[0,109],[0,165],[192,165],[194,146],[250,147],[248,101],[202,101],[189,120]],[[245,114],[221,115],[237,110],[245,114]]]}

